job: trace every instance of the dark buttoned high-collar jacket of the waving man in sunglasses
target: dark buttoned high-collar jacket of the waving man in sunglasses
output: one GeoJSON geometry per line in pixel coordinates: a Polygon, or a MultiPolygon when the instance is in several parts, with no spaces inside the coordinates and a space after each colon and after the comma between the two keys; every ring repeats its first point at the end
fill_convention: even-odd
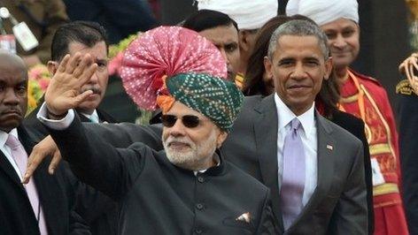
{"type": "Polygon", "coordinates": [[[81,180],[120,201],[120,234],[277,234],[267,187],[219,152],[195,176],[142,143],[113,148],[77,119],[50,133],[81,180]],[[249,223],[236,220],[244,213],[249,223]]]}

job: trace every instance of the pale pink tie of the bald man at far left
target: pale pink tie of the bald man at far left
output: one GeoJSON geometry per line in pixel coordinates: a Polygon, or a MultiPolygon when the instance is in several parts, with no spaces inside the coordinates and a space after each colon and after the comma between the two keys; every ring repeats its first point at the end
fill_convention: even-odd
{"type": "MultiPolygon", "coordinates": [[[[20,141],[14,137],[12,134],[9,134],[9,137],[6,140],[6,145],[12,149],[12,156],[14,161],[18,164],[20,174],[23,176],[26,171],[27,166],[27,152],[23,148],[20,141]]],[[[32,178],[29,180],[29,183],[25,186],[27,197],[29,198],[30,205],[34,210],[36,220],[38,221],[39,231],[42,235],[48,234],[45,218],[43,216],[43,209],[39,202],[38,193],[36,191],[35,183],[32,178]]]]}

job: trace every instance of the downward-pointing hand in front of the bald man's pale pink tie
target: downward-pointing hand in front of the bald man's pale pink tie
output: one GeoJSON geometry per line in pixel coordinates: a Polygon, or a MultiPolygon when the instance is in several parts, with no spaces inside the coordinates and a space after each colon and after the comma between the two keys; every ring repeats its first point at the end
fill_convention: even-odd
{"type": "Polygon", "coordinates": [[[38,165],[42,163],[43,159],[48,155],[52,155],[48,172],[53,174],[55,169],[57,169],[58,163],[61,161],[61,153],[50,135],[45,137],[32,149],[32,153],[30,153],[29,158],[27,159],[27,170],[22,179],[22,183],[27,184],[29,182],[29,178],[32,177],[38,165]]]}

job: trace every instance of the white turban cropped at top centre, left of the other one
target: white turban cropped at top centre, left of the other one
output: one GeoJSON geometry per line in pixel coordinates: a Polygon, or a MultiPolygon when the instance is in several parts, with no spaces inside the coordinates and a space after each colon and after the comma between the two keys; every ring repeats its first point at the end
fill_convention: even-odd
{"type": "Polygon", "coordinates": [[[236,21],[240,30],[262,27],[268,19],[277,16],[278,5],[277,0],[197,0],[198,10],[227,14],[236,21]]]}

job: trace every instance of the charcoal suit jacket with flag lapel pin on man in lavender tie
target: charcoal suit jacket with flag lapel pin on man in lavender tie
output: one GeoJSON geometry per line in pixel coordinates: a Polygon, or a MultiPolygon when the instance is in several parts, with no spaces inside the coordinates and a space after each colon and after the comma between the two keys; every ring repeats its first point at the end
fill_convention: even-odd
{"type": "MultiPolygon", "coordinates": [[[[245,97],[244,108],[223,144],[225,158],[259,179],[271,190],[279,223],[277,176],[277,111],[274,96],[245,97]]],[[[318,132],[318,186],[290,234],[367,234],[368,209],[361,141],[316,114],[318,132]],[[332,146],[329,149],[327,146],[332,146]]],[[[161,149],[160,125],[89,125],[112,145],[127,147],[140,141],[161,149]],[[158,139],[156,139],[158,138],[158,139]]],[[[283,225],[282,225],[283,230],[283,225]]]]}

